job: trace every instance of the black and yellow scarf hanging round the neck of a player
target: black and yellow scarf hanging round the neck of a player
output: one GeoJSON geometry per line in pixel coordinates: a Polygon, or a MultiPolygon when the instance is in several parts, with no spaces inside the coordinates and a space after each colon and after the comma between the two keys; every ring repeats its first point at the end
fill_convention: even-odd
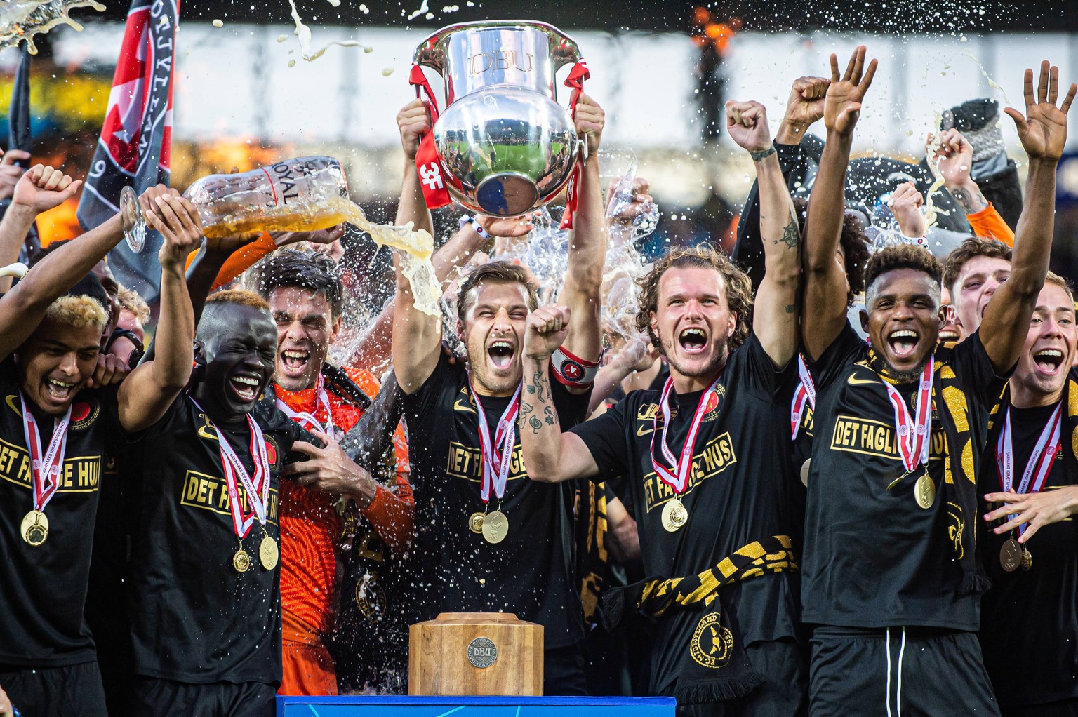
{"type": "MultiPolygon", "coordinates": [[[[973,445],[969,399],[958,385],[954,369],[948,363],[953,348],[954,344],[945,344],[937,349],[936,375],[932,378],[932,411],[939,416],[946,440],[943,482],[937,486],[936,499],[946,504],[945,539],[951,543],[963,573],[958,594],[980,595],[991,584],[977,560],[977,465],[983,446],[973,445]]],[[[882,380],[892,385],[898,383],[892,377],[887,362],[874,348],[869,348],[867,363],[882,380]]]]}

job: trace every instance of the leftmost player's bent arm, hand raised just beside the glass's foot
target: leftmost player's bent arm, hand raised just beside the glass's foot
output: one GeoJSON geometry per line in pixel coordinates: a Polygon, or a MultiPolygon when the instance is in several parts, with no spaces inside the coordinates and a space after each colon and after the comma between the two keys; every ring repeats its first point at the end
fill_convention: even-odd
{"type": "Polygon", "coordinates": [[[136,432],[155,424],[191,377],[195,318],[188,295],[183,264],[202,244],[198,210],[176,190],[154,197],[146,212],[147,226],[161,233],[161,319],[154,333],[157,353],[120,384],[119,413],[124,430],[136,432]]]}

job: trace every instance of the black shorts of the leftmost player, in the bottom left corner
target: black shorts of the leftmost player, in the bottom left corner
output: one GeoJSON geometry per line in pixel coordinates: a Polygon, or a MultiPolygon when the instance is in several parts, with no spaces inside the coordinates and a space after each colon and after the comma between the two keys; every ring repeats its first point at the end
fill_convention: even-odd
{"type": "Polygon", "coordinates": [[[0,687],[25,717],[108,717],[97,662],[44,670],[0,665],[0,687]]]}

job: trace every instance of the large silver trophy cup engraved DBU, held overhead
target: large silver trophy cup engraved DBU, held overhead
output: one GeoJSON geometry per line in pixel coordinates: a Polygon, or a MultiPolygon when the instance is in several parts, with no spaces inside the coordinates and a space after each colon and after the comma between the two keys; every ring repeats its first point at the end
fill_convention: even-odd
{"type": "Polygon", "coordinates": [[[557,196],[580,140],[557,104],[554,75],[579,59],[577,43],[561,30],[528,20],[461,23],[423,41],[415,64],[445,81],[434,147],[456,180],[447,182],[456,202],[513,217],[557,196]]]}

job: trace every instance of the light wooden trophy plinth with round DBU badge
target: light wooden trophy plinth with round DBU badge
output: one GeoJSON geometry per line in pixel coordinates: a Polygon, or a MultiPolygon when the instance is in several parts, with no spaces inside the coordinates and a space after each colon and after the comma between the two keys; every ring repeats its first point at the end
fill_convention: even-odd
{"type": "Polygon", "coordinates": [[[542,645],[509,612],[442,612],[409,629],[409,694],[542,694],[542,645]]]}

